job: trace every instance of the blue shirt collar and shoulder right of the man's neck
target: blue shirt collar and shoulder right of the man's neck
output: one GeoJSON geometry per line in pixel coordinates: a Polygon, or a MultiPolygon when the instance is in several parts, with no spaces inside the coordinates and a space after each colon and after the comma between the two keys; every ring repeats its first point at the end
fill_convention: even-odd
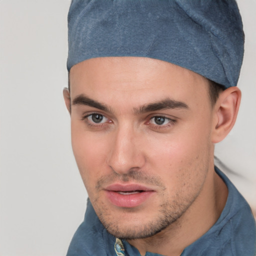
{"type": "Polygon", "coordinates": [[[228,188],[225,207],[216,223],[181,255],[254,256],[256,228],[251,209],[231,181],[217,168],[216,172],[228,188]]]}

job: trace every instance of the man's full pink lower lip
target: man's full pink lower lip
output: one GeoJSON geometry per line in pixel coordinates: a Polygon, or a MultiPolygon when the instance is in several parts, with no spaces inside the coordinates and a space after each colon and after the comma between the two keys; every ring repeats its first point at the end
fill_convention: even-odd
{"type": "Polygon", "coordinates": [[[143,191],[134,194],[120,194],[116,191],[106,190],[106,194],[110,202],[118,207],[131,208],[136,207],[145,202],[154,191],[143,191]]]}

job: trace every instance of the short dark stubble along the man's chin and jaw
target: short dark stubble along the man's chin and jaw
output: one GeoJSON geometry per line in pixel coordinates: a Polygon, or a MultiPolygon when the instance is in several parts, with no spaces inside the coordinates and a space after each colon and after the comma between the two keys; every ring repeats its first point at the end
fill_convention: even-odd
{"type": "MultiPolygon", "coordinates": [[[[136,176],[136,180],[140,179],[142,178],[136,176]]],[[[148,181],[148,178],[146,178],[146,181],[148,181]]],[[[158,184],[161,184],[160,181],[156,182],[154,180],[153,182],[158,182],[158,184]]],[[[100,186],[99,184],[100,181],[98,182],[97,187],[100,186]]],[[[163,190],[165,190],[164,187],[163,190]]],[[[199,192],[200,189],[197,190],[196,193],[181,199],[178,199],[178,195],[176,195],[177,198],[165,198],[158,206],[158,210],[154,217],[152,217],[152,220],[144,223],[142,219],[141,224],[139,223],[135,225],[132,223],[132,220],[125,221],[125,219],[119,219],[118,217],[114,218],[114,216],[111,214],[111,210],[105,205],[104,202],[101,202],[100,205],[98,205],[98,198],[94,200],[94,203],[92,202],[92,205],[94,204],[93,207],[95,206],[94,209],[100,222],[110,234],[120,239],[141,239],[151,237],[159,233],[179,219],[196,199],[199,192]]],[[[135,209],[127,209],[127,212],[128,211],[134,214],[135,209]]]]}

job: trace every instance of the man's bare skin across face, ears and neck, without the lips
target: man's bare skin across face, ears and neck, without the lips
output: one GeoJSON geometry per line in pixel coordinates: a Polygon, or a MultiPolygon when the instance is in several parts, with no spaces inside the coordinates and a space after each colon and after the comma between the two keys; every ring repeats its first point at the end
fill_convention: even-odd
{"type": "Polygon", "coordinates": [[[88,196],[107,230],[141,255],[180,255],[224,207],[228,192],[214,171],[214,143],[232,128],[240,91],[224,90],[212,107],[207,82],[188,69],[143,57],[93,58],[70,70],[70,93],[63,94],[88,196]],[[179,104],[146,107],[166,100],[179,104]],[[103,116],[99,123],[95,113],[103,116]],[[105,192],[113,183],[153,192],[138,206],[118,207],[105,192]]]}

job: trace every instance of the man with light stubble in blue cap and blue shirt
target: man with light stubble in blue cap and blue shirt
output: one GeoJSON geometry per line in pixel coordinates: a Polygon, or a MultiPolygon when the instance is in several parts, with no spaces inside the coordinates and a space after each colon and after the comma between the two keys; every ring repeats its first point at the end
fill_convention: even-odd
{"type": "Polygon", "coordinates": [[[254,255],[251,210],[213,162],[241,97],[235,1],[73,0],[68,29],[89,200],[67,255],[254,255]]]}

